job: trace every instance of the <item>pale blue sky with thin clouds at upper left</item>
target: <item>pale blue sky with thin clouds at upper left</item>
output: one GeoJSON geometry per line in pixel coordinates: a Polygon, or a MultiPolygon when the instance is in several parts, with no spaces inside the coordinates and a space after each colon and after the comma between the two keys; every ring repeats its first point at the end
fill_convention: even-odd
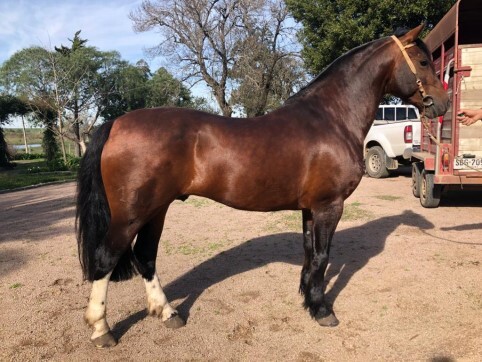
{"type": "Polygon", "coordinates": [[[53,49],[70,46],[76,31],[87,45],[102,51],[117,50],[122,59],[145,59],[151,69],[160,59],[149,59],[144,49],[160,39],[155,31],[135,33],[129,12],[141,0],[0,0],[0,63],[30,46],[53,49]]]}

